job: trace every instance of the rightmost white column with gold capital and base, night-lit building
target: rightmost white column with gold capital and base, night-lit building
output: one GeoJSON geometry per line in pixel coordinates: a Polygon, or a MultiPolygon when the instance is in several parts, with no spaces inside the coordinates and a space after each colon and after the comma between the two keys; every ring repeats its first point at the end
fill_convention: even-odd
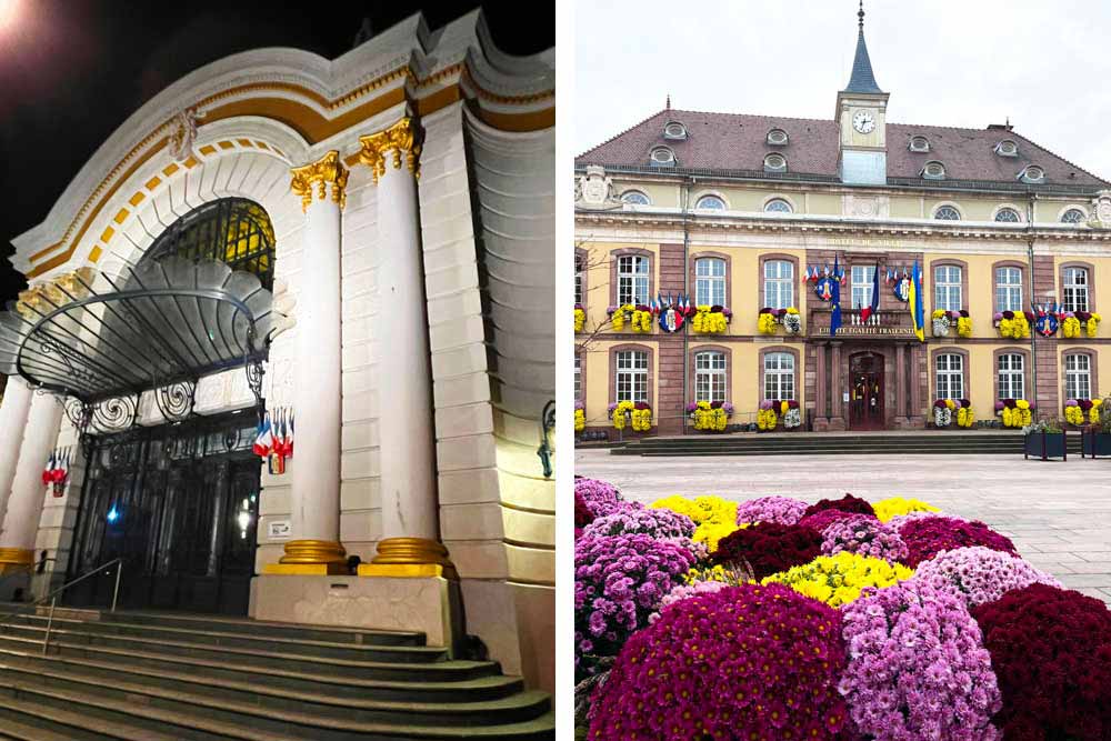
{"type": "Polygon", "coordinates": [[[404,117],[361,137],[378,188],[378,294],[403,307],[378,324],[382,540],[362,577],[454,577],[440,542],[432,369],[417,196],[420,131],[404,117]]]}

